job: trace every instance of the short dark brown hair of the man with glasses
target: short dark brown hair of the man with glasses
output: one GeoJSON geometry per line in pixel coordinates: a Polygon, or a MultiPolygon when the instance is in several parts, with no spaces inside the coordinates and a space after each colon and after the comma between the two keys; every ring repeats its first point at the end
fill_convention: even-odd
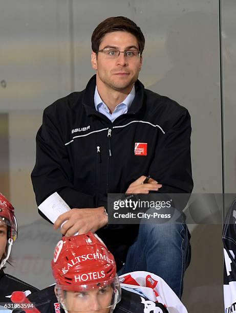
{"type": "Polygon", "coordinates": [[[105,34],[117,31],[128,32],[134,35],[138,41],[140,54],[142,54],[145,44],[143,33],[133,20],[124,16],[108,17],[95,28],[91,37],[93,52],[98,52],[101,40],[105,34]]]}

